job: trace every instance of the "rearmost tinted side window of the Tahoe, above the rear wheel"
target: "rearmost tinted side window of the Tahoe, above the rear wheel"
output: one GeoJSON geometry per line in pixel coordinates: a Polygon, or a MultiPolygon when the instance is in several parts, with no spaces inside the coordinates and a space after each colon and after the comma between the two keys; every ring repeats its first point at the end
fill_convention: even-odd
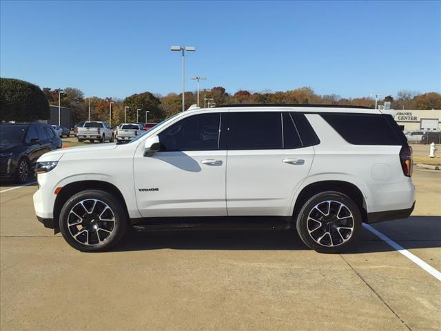
{"type": "Polygon", "coordinates": [[[382,115],[322,114],[321,116],[343,139],[354,145],[401,144],[395,130],[382,115]]]}

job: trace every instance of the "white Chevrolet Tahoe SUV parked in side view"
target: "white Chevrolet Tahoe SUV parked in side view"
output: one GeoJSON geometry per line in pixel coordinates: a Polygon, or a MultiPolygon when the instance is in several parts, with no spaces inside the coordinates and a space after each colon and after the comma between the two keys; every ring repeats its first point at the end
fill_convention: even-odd
{"type": "Polygon", "coordinates": [[[309,248],[341,252],[363,221],[409,217],[415,203],[404,134],[356,107],[189,110],[125,145],[48,152],[36,171],[37,218],[85,252],[129,225],[296,228],[309,248]]]}

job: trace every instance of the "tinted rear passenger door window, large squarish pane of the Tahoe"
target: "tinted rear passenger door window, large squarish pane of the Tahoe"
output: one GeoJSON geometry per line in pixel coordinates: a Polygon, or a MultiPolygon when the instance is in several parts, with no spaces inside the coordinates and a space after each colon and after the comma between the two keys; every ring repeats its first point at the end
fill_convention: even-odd
{"type": "Polygon", "coordinates": [[[229,150],[269,150],[283,148],[280,112],[230,112],[229,150]]]}

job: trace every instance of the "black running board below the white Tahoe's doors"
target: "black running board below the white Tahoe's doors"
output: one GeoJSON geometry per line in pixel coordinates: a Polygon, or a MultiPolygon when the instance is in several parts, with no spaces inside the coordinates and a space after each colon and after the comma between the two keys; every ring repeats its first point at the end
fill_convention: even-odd
{"type": "Polygon", "coordinates": [[[132,219],[136,231],[178,230],[286,230],[291,217],[154,217],[132,219]]]}

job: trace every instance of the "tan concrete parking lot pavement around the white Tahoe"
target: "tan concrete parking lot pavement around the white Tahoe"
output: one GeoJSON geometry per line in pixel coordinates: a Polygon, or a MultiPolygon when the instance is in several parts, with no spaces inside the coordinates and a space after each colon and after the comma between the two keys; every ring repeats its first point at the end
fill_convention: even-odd
{"type": "MultiPolygon", "coordinates": [[[[441,172],[373,227],[441,270],[441,172]]],[[[31,181],[32,183],[32,181],[31,181]]],[[[35,183],[0,187],[1,330],[440,330],[441,281],[368,230],[346,254],[294,231],[132,233],[85,254],[43,228],[35,183]]]]}

